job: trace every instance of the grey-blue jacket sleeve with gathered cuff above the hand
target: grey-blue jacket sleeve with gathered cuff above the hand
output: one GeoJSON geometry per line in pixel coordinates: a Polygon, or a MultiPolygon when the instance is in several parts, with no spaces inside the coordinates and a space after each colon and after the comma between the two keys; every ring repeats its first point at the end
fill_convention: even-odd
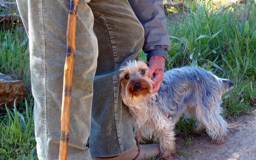
{"type": "Polygon", "coordinates": [[[166,27],[163,0],[128,0],[145,30],[143,51],[147,61],[152,56],[163,56],[170,49],[170,39],[166,27]]]}

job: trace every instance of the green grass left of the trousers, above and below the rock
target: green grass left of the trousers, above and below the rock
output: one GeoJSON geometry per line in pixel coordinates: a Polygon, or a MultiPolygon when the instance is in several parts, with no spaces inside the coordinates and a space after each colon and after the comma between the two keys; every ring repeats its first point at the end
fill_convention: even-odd
{"type": "MultiPolygon", "coordinates": [[[[1,11],[6,14],[7,11],[1,11]]],[[[12,11],[10,11],[12,13],[12,11]]],[[[28,37],[20,24],[0,27],[0,72],[22,80],[27,101],[0,113],[0,160],[33,160],[36,157],[33,97],[31,95],[28,37]],[[22,114],[20,114],[22,113],[22,114]]],[[[37,159],[37,158],[36,158],[37,159]]]]}

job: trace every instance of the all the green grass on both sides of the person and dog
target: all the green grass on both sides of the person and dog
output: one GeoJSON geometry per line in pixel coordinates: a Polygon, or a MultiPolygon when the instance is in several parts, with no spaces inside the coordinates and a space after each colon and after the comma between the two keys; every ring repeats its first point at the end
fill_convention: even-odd
{"type": "MultiPolygon", "coordinates": [[[[209,70],[236,85],[223,96],[223,116],[236,118],[256,112],[256,6],[248,1],[224,11],[211,2],[183,1],[188,8],[166,10],[171,49],[166,69],[196,66],[209,70]],[[171,13],[170,13],[171,11],[171,13]]],[[[28,103],[0,115],[0,160],[34,159],[33,97],[30,87],[28,38],[18,25],[0,28],[0,72],[22,80],[28,91],[28,103]],[[22,113],[22,114],[19,114],[22,113]],[[23,117],[23,118],[22,118],[23,117]]],[[[141,51],[140,60],[146,60],[141,51]]],[[[190,145],[195,121],[183,119],[176,125],[177,136],[190,145]]],[[[178,154],[192,156],[178,150],[178,154]]],[[[154,160],[154,158],[152,159],[154,160]]]]}

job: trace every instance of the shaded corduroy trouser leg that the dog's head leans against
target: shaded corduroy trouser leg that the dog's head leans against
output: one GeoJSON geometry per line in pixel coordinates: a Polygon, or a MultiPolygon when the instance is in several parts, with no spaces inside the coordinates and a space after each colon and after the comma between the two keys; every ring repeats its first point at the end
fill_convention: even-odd
{"type": "Polygon", "coordinates": [[[134,148],[131,114],[122,104],[118,69],[136,59],[144,43],[144,30],[126,0],[91,0],[99,56],[94,78],[90,132],[93,157],[120,155],[134,148]]]}

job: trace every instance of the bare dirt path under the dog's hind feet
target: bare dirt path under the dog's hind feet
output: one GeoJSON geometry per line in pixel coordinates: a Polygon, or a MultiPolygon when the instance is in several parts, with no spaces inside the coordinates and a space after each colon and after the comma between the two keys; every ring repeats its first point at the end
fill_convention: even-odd
{"type": "MultiPolygon", "coordinates": [[[[241,115],[228,121],[227,140],[214,145],[209,136],[198,136],[187,147],[179,149],[174,160],[254,160],[256,159],[256,114],[241,115]]],[[[182,139],[178,139],[178,143],[182,139]]],[[[184,140],[185,141],[185,140],[184,140]]]]}

